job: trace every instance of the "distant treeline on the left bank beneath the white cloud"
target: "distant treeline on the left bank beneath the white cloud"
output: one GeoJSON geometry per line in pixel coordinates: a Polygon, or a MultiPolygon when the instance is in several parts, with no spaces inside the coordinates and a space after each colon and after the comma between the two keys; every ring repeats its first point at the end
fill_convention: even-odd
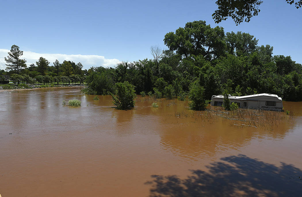
{"type": "Polygon", "coordinates": [[[36,64],[26,65],[26,60],[21,59],[23,51],[17,45],[11,47],[8,57],[5,57],[6,70],[0,70],[1,75],[9,75],[10,79],[15,83],[52,83],[52,82],[80,82],[85,80],[87,70],[82,70],[82,63],[74,63],[72,61],[58,60],[50,65],[50,62],[40,57],[36,64]]]}

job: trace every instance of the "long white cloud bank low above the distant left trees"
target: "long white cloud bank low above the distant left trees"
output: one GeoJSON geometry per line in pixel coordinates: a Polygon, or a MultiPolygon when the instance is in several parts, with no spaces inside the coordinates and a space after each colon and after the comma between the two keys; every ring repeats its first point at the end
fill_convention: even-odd
{"type": "MultiPolygon", "coordinates": [[[[8,56],[8,49],[0,49],[0,69],[5,69],[4,57],[8,56]]],[[[50,62],[50,66],[53,66],[55,60],[59,60],[62,63],[64,60],[72,61],[75,63],[81,62],[83,69],[89,69],[91,66],[104,66],[114,67],[120,60],[117,59],[106,59],[104,56],[99,55],[66,55],[66,54],[51,54],[51,53],[35,53],[31,51],[24,51],[22,59],[26,60],[27,66],[39,60],[40,57],[44,57],[50,62]]]]}

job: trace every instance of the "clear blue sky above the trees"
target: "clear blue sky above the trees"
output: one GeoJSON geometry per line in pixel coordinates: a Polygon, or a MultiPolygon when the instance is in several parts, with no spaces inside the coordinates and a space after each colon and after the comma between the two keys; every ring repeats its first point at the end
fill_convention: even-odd
{"type": "Polygon", "coordinates": [[[263,1],[258,16],[236,26],[231,18],[214,23],[214,0],[2,0],[0,69],[5,67],[4,56],[13,44],[27,51],[27,63],[43,55],[51,64],[55,59],[69,58],[81,61],[86,69],[151,58],[150,46],[167,48],[163,43],[166,33],[196,20],[205,20],[212,27],[222,26],[225,32],[252,34],[259,39],[259,45],[273,46],[274,55],[291,56],[302,63],[302,8],[297,9],[285,0],[263,1]]]}

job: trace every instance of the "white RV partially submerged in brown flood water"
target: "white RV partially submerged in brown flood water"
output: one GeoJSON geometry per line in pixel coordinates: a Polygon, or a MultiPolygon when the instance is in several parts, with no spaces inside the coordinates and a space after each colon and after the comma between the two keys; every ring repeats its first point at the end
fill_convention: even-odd
{"type": "MultiPolygon", "coordinates": [[[[222,106],[223,95],[213,95],[211,105],[222,106]]],[[[282,98],[275,94],[253,94],[247,96],[231,96],[229,95],[230,102],[234,102],[239,108],[246,109],[262,109],[271,111],[282,111],[282,98]]]]}

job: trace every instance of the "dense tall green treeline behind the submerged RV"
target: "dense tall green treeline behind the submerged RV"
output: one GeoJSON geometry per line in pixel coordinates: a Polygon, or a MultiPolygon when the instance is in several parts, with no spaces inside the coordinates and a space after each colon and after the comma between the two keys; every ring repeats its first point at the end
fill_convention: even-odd
{"type": "Polygon", "coordinates": [[[273,56],[270,45],[258,46],[248,33],[227,32],[205,21],[188,22],[165,35],[169,50],[152,47],[153,60],[122,62],[116,68],[87,71],[86,92],[108,94],[114,84],[128,81],[157,97],[180,97],[198,83],[202,96],[271,93],[287,101],[302,100],[302,66],[290,56],[273,56]]]}

